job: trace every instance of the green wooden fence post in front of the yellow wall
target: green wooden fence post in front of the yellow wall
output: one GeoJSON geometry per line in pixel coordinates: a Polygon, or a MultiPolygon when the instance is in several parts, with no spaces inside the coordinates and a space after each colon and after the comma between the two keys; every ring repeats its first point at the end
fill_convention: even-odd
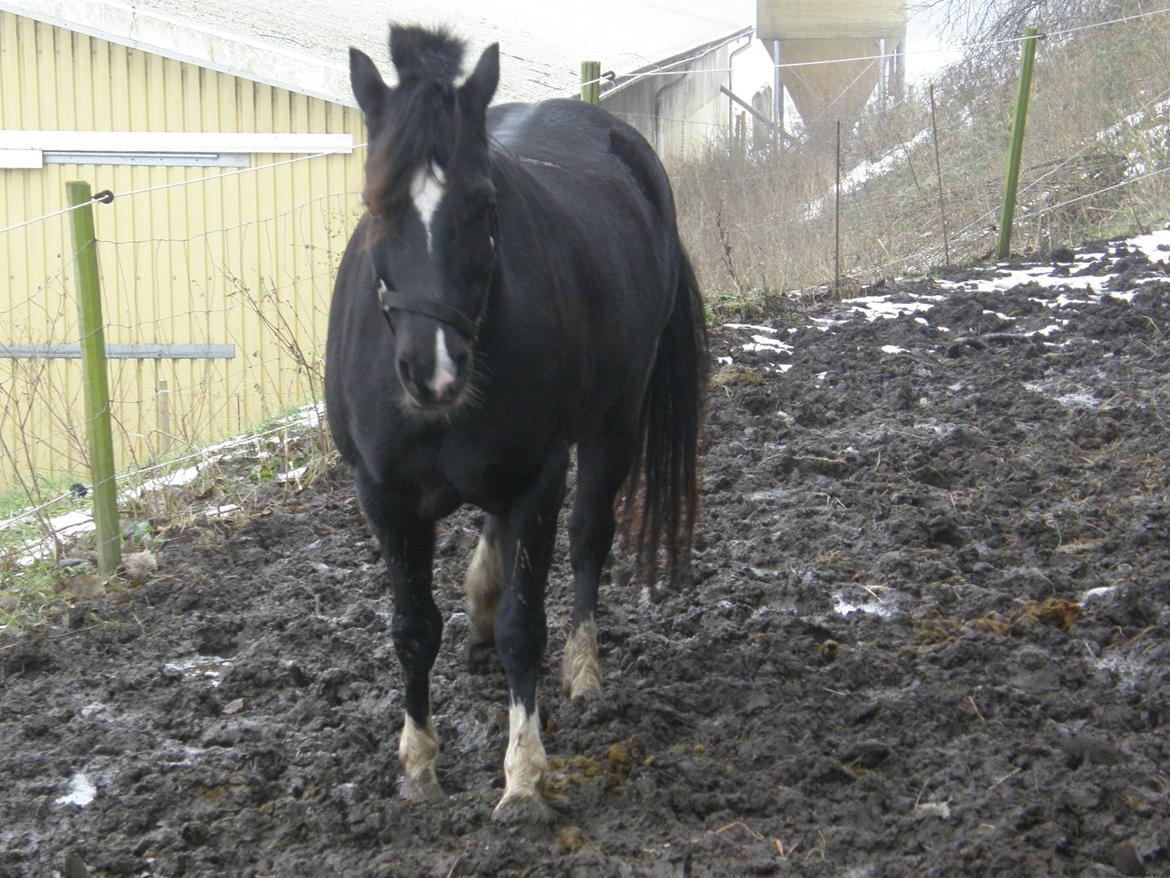
{"type": "Polygon", "coordinates": [[[122,526],[118,522],[118,487],[113,480],[110,386],[105,369],[102,290],[97,280],[94,203],[88,183],[67,183],[66,193],[70,206],[74,207],[69,219],[76,265],[82,379],[85,386],[85,435],[89,441],[89,467],[94,480],[97,567],[103,576],[109,576],[122,561],[122,526]]]}

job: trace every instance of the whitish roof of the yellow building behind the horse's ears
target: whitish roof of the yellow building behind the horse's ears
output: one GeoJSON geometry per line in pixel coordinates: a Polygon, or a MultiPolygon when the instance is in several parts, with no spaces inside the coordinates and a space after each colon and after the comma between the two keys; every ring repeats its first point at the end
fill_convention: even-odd
{"type": "Polygon", "coordinates": [[[753,0],[0,0],[0,9],[352,107],[346,53],[387,74],[388,22],[446,25],[468,63],[501,49],[498,98],[577,91],[580,62],[625,73],[725,36],[755,18],[753,0]]]}

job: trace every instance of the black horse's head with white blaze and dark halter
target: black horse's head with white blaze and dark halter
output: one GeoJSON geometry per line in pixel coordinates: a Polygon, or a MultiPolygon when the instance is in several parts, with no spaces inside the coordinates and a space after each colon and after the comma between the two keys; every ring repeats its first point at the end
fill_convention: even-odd
{"type": "Polygon", "coordinates": [[[496,272],[484,115],[500,49],[484,50],[461,84],[463,44],[442,30],[392,27],[390,54],[393,88],[350,49],[353,95],[370,130],[370,258],[407,399],[446,411],[466,396],[496,272]]]}

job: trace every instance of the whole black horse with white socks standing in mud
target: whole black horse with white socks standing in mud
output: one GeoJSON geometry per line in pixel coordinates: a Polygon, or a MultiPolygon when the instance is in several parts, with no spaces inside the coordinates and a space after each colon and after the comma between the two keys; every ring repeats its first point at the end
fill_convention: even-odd
{"type": "Polygon", "coordinates": [[[495,644],[511,694],[502,819],[551,816],[536,682],[570,448],[574,602],[563,681],[600,692],[598,577],[625,486],[649,576],[677,578],[696,512],[703,309],[651,146],[576,101],[488,111],[498,46],[461,84],[462,43],[393,27],[398,84],[350,50],[370,130],[366,215],[342,260],[326,352],[329,424],[393,590],[411,798],[442,795],[429,675],[435,521],[486,513],[464,578],[473,653],[495,644]]]}

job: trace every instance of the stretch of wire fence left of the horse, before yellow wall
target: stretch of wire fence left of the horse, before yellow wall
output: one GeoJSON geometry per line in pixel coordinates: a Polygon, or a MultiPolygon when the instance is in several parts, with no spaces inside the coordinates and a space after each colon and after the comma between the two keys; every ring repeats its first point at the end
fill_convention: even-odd
{"type": "MultiPolygon", "coordinates": [[[[332,280],[360,210],[360,157],[314,185],[276,177],[314,160],[337,159],[260,164],[243,169],[247,183],[241,171],[178,180],[156,171],[153,185],[90,203],[119,471],[180,460],[321,397],[332,280]]],[[[20,266],[0,302],[0,486],[33,501],[22,520],[68,501],[62,483],[88,482],[67,213],[0,234],[0,258],[20,266]],[[53,274],[37,280],[28,267],[47,253],[56,254],[53,274]]]]}

